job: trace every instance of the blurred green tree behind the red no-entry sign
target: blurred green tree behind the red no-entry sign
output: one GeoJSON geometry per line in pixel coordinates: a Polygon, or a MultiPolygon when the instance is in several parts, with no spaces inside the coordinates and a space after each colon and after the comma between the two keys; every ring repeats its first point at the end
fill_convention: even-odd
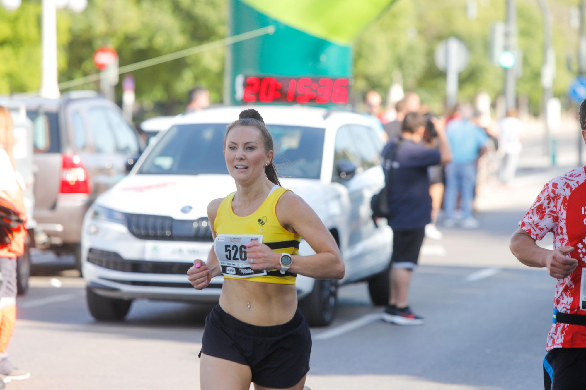
{"type": "MultiPolygon", "coordinates": [[[[93,0],[70,16],[69,67],[60,80],[95,73],[92,55],[101,45],[113,46],[122,66],[222,39],[226,15],[222,0],[93,0]]],[[[219,102],[223,69],[224,50],[214,49],[134,71],[137,101],[147,110],[156,105],[156,111],[176,114],[185,108],[188,91],[202,85],[219,102]]],[[[120,96],[121,83],[117,88],[120,96]]]]}

